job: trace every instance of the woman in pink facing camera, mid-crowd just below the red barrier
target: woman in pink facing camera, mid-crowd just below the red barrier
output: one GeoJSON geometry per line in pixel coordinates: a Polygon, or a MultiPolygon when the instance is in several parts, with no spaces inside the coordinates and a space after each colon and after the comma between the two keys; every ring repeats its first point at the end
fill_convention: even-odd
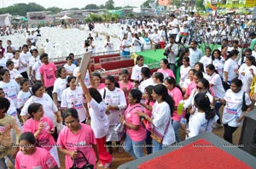
{"type": "Polygon", "coordinates": [[[122,89],[125,93],[125,99],[127,103],[127,97],[128,93],[131,91],[131,88],[133,88],[132,82],[128,81],[129,79],[129,71],[128,70],[122,70],[120,75],[120,81],[119,81],[119,88],[122,89]]]}

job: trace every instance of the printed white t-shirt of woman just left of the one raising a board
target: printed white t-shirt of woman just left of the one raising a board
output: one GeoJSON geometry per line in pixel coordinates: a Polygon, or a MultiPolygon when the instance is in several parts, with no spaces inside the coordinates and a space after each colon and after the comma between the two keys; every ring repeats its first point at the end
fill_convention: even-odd
{"type": "Polygon", "coordinates": [[[61,107],[63,108],[74,108],[78,111],[79,121],[82,122],[86,119],[85,108],[84,108],[84,94],[81,87],[76,87],[75,90],[71,90],[67,87],[61,96],[61,107]]]}

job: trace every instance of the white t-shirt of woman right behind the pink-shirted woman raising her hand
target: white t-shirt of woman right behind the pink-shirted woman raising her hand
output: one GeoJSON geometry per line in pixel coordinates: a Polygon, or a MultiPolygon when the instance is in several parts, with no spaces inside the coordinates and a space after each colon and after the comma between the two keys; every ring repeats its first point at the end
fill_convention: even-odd
{"type": "Polygon", "coordinates": [[[55,103],[47,93],[44,93],[42,98],[38,98],[37,96],[32,95],[32,97],[30,97],[30,99],[28,99],[24,104],[20,115],[29,115],[27,109],[28,106],[32,103],[42,104],[44,115],[47,116],[50,121],[52,121],[52,123],[55,125],[55,112],[58,111],[58,108],[55,106],[55,103]]]}

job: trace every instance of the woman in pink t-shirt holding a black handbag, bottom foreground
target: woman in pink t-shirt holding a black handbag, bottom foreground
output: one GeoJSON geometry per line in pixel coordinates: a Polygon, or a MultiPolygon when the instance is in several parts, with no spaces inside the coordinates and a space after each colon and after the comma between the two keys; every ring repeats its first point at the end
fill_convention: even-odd
{"type": "Polygon", "coordinates": [[[91,127],[79,122],[78,111],[73,108],[65,110],[63,120],[67,127],[61,130],[57,145],[60,152],[65,155],[66,168],[73,166],[73,162],[79,168],[86,165],[83,155],[79,153],[82,152],[87,161],[96,169],[99,153],[91,127]]]}

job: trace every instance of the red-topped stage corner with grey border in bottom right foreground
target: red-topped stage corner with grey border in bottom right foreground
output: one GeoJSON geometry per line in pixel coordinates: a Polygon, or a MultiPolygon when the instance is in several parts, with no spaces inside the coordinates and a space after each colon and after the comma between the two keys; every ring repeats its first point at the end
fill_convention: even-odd
{"type": "MultiPolygon", "coordinates": [[[[240,145],[242,146],[242,145],[240,145]]],[[[256,168],[256,158],[207,132],[125,163],[119,169],[256,168]]]]}

